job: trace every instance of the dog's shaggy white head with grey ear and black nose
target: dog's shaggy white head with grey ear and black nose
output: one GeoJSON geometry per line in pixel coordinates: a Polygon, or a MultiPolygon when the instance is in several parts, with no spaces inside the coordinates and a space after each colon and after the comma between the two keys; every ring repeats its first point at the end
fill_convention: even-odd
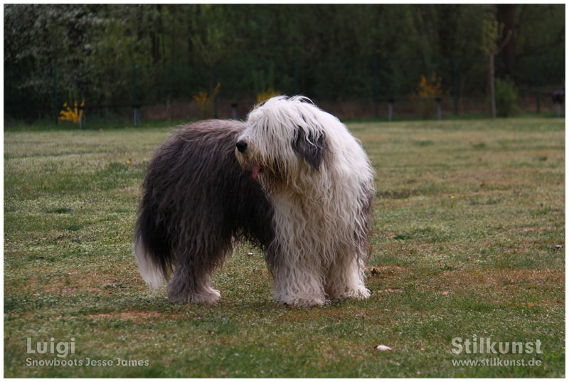
{"type": "Polygon", "coordinates": [[[257,105],[235,145],[240,165],[270,189],[309,181],[329,159],[328,117],[335,118],[306,97],[278,96],[257,105]]]}

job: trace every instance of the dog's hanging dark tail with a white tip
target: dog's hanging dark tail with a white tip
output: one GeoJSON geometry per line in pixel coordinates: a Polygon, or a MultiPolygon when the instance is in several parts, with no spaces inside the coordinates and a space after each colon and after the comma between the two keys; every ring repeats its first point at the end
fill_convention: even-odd
{"type": "Polygon", "coordinates": [[[174,254],[167,243],[165,230],[156,227],[156,221],[143,206],[134,233],[134,257],[142,279],[151,290],[164,284],[173,265],[174,254]]]}

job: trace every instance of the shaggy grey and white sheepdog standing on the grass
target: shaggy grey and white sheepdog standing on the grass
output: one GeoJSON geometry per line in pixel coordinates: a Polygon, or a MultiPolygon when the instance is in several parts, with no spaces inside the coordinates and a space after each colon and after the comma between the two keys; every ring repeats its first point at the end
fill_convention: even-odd
{"type": "Polygon", "coordinates": [[[294,306],[369,297],[373,169],[336,117],[273,97],[243,122],[182,127],[154,153],[134,250],[149,287],[213,303],[212,276],[238,240],[265,252],[274,298],[294,306]]]}

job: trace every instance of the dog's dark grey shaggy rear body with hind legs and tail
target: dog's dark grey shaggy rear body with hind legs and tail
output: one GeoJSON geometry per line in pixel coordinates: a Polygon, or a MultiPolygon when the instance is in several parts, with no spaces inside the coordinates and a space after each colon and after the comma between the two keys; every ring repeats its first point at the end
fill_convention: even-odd
{"type": "Polygon", "coordinates": [[[274,259],[272,206],[235,158],[245,124],[187,124],[159,147],[144,179],[135,247],[152,287],[169,277],[169,299],[215,302],[211,276],[246,238],[274,259]],[[175,267],[174,267],[175,265],[175,267]],[[156,274],[159,270],[161,274],[156,274]]]}

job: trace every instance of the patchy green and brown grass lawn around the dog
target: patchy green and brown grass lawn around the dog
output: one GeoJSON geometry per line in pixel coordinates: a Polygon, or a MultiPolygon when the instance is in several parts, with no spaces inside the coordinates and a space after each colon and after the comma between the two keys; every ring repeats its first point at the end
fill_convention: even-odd
{"type": "Polygon", "coordinates": [[[214,306],[147,292],[132,233],[169,129],[4,132],[4,375],[565,376],[565,120],[349,127],[377,172],[373,294],[312,309],[272,301],[246,245],[214,306]],[[473,336],[541,352],[452,353],[473,336]],[[52,337],[75,353],[27,354],[52,337]]]}

